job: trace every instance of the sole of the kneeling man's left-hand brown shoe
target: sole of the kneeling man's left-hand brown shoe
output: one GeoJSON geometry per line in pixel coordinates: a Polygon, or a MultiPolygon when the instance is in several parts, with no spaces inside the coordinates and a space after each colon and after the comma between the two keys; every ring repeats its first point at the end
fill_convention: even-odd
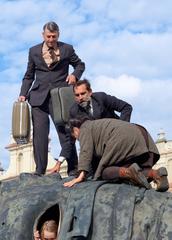
{"type": "Polygon", "coordinates": [[[135,172],[135,175],[137,175],[137,185],[144,187],[146,189],[151,189],[150,183],[148,183],[147,178],[143,173],[141,173],[141,168],[137,165],[137,163],[133,163],[130,167],[130,169],[133,169],[135,172]]]}

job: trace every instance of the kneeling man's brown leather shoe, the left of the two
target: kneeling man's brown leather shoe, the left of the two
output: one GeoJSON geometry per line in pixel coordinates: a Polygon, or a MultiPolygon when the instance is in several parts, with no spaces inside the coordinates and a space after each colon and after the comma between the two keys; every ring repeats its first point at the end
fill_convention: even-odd
{"type": "Polygon", "coordinates": [[[141,172],[141,168],[137,163],[133,163],[126,172],[127,179],[136,186],[144,187],[150,189],[151,185],[148,183],[147,178],[141,172]]]}

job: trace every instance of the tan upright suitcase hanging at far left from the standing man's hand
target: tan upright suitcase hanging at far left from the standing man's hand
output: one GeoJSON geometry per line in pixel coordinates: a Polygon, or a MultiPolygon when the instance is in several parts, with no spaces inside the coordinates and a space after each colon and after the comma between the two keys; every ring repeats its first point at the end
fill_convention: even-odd
{"type": "Polygon", "coordinates": [[[27,102],[14,102],[12,135],[17,144],[26,144],[30,138],[30,109],[27,102]]]}

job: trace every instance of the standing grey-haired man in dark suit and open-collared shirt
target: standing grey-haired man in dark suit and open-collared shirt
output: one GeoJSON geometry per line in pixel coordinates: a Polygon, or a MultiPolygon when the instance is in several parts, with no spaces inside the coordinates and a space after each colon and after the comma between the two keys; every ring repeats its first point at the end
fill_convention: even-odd
{"type": "MultiPolygon", "coordinates": [[[[53,120],[50,91],[56,87],[75,84],[81,77],[85,64],[76,55],[73,47],[58,41],[59,27],[48,22],[43,27],[43,43],[29,50],[27,71],[24,75],[19,101],[28,101],[32,107],[33,147],[36,173],[44,174],[48,160],[49,115],[53,120]],[[69,74],[69,65],[74,68],[69,74]]],[[[62,147],[56,171],[66,159],[68,173],[77,164],[70,133],[65,126],[55,126],[62,147]]]]}

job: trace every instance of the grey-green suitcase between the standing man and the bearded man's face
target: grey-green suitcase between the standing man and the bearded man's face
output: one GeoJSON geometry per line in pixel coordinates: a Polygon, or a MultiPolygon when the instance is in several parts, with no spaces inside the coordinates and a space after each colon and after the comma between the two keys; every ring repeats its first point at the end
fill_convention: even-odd
{"type": "Polygon", "coordinates": [[[74,103],[73,87],[61,87],[51,90],[54,121],[58,125],[66,124],[69,120],[69,110],[74,103]]]}

